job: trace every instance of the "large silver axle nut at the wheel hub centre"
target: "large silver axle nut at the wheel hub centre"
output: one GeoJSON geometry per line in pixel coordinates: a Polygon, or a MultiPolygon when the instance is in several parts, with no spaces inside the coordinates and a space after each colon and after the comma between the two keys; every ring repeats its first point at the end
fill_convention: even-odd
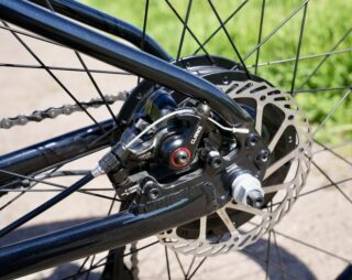
{"type": "Polygon", "coordinates": [[[250,173],[242,173],[232,181],[232,196],[237,203],[260,208],[264,205],[261,181],[250,173]]]}

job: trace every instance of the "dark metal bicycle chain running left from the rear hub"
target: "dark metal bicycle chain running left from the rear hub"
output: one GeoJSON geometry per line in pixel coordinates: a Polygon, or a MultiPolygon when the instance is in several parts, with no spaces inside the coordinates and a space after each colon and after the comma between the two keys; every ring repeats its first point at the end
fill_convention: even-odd
{"type": "MultiPolygon", "coordinates": [[[[108,105],[116,101],[124,101],[128,98],[128,91],[120,91],[116,95],[105,95],[108,105]]],[[[84,108],[99,108],[105,105],[101,98],[94,98],[88,103],[80,103],[84,108]]],[[[55,119],[61,115],[72,115],[76,111],[82,111],[79,105],[63,105],[62,107],[51,107],[45,110],[35,110],[31,115],[19,115],[11,118],[2,118],[0,120],[0,129],[10,129],[15,126],[25,126],[29,122],[41,122],[44,119],[55,119]]]]}

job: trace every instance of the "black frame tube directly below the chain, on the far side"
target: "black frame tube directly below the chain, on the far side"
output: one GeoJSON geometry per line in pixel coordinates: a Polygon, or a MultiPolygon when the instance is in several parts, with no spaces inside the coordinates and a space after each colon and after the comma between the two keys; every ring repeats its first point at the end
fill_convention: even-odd
{"type": "MultiPolygon", "coordinates": [[[[57,164],[63,164],[67,160],[72,161],[101,150],[113,143],[113,139],[118,138],[120,130],[114,128],[113,120],[100,122],[100,127],[91,125],[66,134],[48,139],[46,141],[35,143],[14,152],[0,157],[0,170],[6,170],[12,173],[22,175],[33,175],[44,172],[57,164]],[[113,132],[109,137],[102,137],[105,131],[113,132]]],[[[0,172],[0,186],[16,187],[18,179],[15,175],[0,172]]],[[[1,189],[0,189],[1,191],[1,189]]]]}

